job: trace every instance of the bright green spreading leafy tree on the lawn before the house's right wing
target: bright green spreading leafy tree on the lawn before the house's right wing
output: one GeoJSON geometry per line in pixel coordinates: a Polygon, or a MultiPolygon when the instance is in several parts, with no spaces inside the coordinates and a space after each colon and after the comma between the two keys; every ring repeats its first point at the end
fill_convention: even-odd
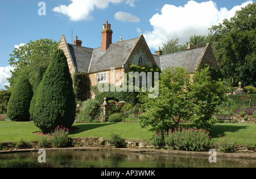
{"type": "Polygon", "coordinates": [[[147,92],[139,95],[146,109],[139,117],[140,125],[167,131],[180,120],[191,120],[196,127],[210,127],[216,106],[224,100],[225,86],[210,78],[209,67],[196,71],[192,81],[183,67],[164,70],[160,74],[159,96],[150,99],[147,92]]]}

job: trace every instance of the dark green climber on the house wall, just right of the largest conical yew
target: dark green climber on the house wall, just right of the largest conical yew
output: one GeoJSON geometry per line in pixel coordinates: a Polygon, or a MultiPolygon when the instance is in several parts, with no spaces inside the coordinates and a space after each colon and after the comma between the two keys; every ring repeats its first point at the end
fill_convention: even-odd
{"type": "Polygon", "coordinates": [[[85,101],[87,99],[87,91],[89,76],[86,73],[76,71],[74,74],[74,93],[77,101],[85,101]]]}

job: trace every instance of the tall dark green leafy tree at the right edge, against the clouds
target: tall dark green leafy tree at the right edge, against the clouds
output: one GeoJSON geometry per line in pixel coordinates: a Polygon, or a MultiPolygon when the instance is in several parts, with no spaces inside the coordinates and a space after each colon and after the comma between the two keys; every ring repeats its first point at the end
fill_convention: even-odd
{"type": "Polygon", "coordinates": [[[210,28],[215,56],[230,86],[256,86],[256,2],[210,28]]]}

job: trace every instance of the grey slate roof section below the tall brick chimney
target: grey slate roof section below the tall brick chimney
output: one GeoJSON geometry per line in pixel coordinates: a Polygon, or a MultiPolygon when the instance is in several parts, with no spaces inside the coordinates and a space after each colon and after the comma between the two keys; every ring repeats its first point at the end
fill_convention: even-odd
{"type": "Polygon", "coordinates": [[[96,73],[110,70],[111,67],[121,68],[129,58],[138,39],[139,37],[110,44],[105,52],[101,52],[100,47],[92,49],[68,44],[68,48],[78,71],[96,73]]]}

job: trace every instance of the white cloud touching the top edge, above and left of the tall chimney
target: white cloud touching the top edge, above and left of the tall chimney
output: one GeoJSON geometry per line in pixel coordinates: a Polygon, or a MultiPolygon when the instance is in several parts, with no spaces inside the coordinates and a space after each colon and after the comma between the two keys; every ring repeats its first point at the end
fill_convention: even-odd
{"type": "Polygon", "coordinates": [[[135,6],[134,0],[71,0],[68,6],[60,5],[53,8],[54,12],[67,15],[71,21],[93,20],[92,12],[94,8],[104,9],[109,3],[119,4],[125,2],[126,5],[135,6]]]}

